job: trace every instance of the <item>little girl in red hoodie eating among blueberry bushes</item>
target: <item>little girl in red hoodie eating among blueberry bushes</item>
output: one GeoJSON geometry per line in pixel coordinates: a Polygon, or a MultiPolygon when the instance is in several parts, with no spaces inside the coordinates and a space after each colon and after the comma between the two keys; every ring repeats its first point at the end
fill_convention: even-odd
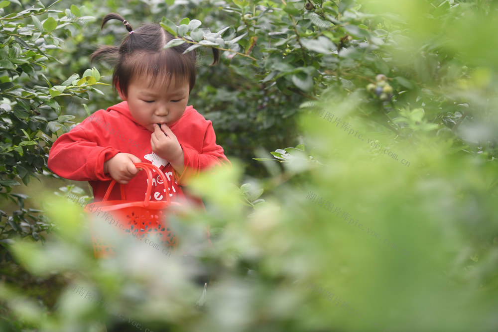
{"type": "MultiPolygon", "coordinates": [[[[158,24],[136,30],[120,15],[107,21],[124,23],[128,34],[120,47],[101,46],[91,59],[104,56],[116,62],[113,86],[123,102],[96,111],[54,142],[48,167],[71,180],[88,181],[95,201],[102,201],[112,179],[127,184],[127,200],[141,201],[147,188],[145,172],[133,165],[152,163],[168,181],[167,191],[158,174],[152,179],[150,200],[185,198],[182,186],[199,172],[230,164],[216,144],[211,121],[192,106],[188,97],[195,84],[195,52],[183,52],[188,43],[163,49],[175,37],[158,24]]],[[[214,61],[219,52],[213,49],[214,61]]],[[[187,195],[188,196],[188,195],[187,195]]],[[[109,200],[120,200],[114,186],[109,200]]]]}

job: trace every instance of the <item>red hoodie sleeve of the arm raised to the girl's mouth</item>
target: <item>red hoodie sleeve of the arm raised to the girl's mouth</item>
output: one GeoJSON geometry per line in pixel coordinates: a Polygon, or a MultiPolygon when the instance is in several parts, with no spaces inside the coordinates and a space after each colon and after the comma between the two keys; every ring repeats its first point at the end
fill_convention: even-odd
{"type": "Polygon", "coordinates": [[[216,144],[216,135],[211,121],[208,123],[200,152],[188,143],[180,142],[184,155],[183,172],[181,175],[176,174],[176,181],[180,186],[186,185],[188,179],[197,177],[202,171],[216,166],[231,165],[223,153],[223,148],[216,144]]]}

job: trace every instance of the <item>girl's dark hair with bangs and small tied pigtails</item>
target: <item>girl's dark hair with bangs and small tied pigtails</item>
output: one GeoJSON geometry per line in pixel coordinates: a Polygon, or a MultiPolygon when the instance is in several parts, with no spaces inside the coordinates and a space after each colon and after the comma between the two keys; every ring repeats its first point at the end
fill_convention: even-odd
{"type": "MultiPolygon", "coordinates": [[[[190,91],[192,91],[195,85],[196,54],[195,51],[183,54],[190,46],[189,43],[163,49],[163,46],[175,36],[159,24],[145,24],[133,30],[124,17],[116,13],[107,14],[102,19],[101,30],[111,19],[122,21],[129,33],[124,37],[120,47],[100,46],[92,53],[90,61],[104,56],[116,63],[113,73],[115,89],[116,84],[119,84],[124,96],[127,97],[131,80],[136,76],[146,74],[152,78],[151,85],[161,77],[163,82],[173,77],[176,85],[181,84],[183,78],[188,78],[190,91]]],[[[220,53],[215,48],[213,48],[213,56],[214,60],[211,65],[220,59],[220,53]]]]}

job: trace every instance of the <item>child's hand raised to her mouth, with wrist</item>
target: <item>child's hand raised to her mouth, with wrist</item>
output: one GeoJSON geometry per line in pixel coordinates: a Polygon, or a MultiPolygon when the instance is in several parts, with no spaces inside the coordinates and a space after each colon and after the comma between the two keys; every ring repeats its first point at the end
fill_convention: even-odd
{"type": "Polygon", "coordinates": [[[162,159],[169,161],[175,171],[183,172],[183,150],[175,134],[166,124],[160,127],[154,123],[154,132],[150,137],[152,151],[162,159]]]}

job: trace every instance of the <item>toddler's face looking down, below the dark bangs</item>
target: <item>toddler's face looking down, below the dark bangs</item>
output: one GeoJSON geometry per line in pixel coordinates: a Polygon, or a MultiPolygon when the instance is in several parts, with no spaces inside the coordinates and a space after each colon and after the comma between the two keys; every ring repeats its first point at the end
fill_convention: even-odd
{"type": "Polygon", "coordinates": [[[150,78],[142,75],[128,85],[128,96],[124,98],[120,89],[121,99],[128,102],[129,111],[135,121],[150,131],[154,131],[154,123],[166,123],[168,126],[180,119],[187,107],[189,97],[189,82],[184,80],[174,87],[174,77],[167,84],[156,80],[149,86],[150,78]]]}

